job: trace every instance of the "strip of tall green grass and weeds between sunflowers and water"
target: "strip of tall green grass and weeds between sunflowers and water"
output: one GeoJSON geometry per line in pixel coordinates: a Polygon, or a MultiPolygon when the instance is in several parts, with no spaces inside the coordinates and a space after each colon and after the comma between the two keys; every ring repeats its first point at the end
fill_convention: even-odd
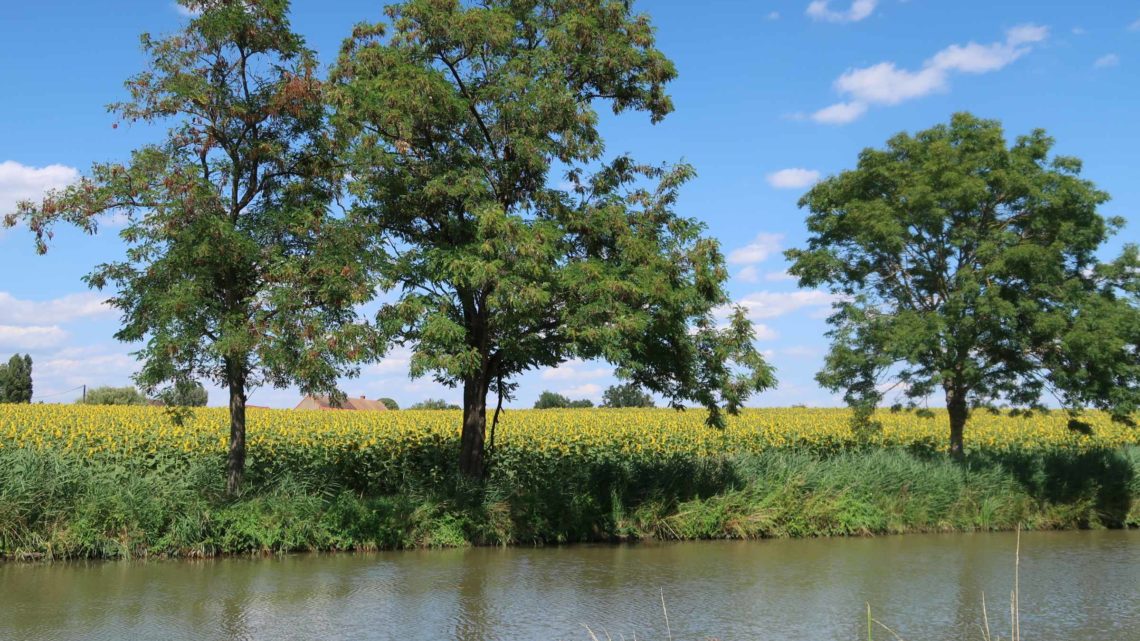
{"type": "Polygon", "coordinates": [[[0,555],[131,558],[585,541],[1138,527],[1140,447],[495,468],[399,484],[280,473],[223,493],[221,461],[156,469],[0,451],[0,555]],[[383,495],[367,487],[396,487],[383,495]]]}

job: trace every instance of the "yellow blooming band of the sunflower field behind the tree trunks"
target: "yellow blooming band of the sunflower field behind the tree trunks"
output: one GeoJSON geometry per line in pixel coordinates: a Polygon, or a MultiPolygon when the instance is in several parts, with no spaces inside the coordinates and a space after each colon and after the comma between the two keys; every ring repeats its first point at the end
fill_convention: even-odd
{"type": "MultiPolygon", "coordinates": [[[[747,409],[724,430],[706,427],[700,409],[522,409],[503,414],[496,430],[502,452],[554,457],[706,457],[769,449],[832,452],[855,445],[845,409],[747,409]]],[[[921,417],[881,412],[882,429],[870,444],[945,449],[942,412],[921,417]]],[[[1011,417],[976,413],[967,447],[987,452],[1116,448],[1140,445],[1140,430],[1089,413],[1091,433],[1067,428],[1060,412],[1011,417]]],[[[259,459],[336,461],[397,460],[415,452],[450,449],[461,416],[448,411],[309,412],[251,409],[250,453],[259,459]]],[[[223,408],[195,411],[181,423],[162,408],[66,405],[0,405],[0,448],[38,448],[91,457],[220,455],[226,449],[223,408]]]]}

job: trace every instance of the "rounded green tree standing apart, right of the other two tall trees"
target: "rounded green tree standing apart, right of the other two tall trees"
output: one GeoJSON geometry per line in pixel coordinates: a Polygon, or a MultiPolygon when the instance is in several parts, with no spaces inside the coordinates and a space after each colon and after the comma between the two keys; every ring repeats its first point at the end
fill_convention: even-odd
{"type": "Polygon", "coordinates": [[[803,197],[809,237],[790,271],[842,301],[817,380],[857,416],[889,389],[909,405],[940,391],[961,456],[975,407],[1137,409],[1137,249],[1098,258],[1123,220],[1052,146],[1041,130],[1008,145],[1000,123],[956,114],[803,197]]]}

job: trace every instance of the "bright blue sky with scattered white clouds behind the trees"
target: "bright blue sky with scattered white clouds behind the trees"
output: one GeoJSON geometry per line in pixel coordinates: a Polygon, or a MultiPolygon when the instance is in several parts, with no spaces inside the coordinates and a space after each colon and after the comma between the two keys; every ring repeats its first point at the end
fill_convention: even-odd
{"type": "MultiPolygon", "coordinates": [[[[1084,160],[1113,195],[1107,216],[1130,221],[1113,246],[1140,238],[1140,6],[1132,1],[641,0],[659,47],[677,64],[676,112],[603,119],[611,154],[684,160],[699,177],[679,210],[708,225],[728,254],[730,290],[757,325],[780,388],[750,405],[834,405],[813,380],[826,350],[830,298],[798,291],[781,251],[803,243],[796,201],[811,182],[854,164],[860,149],[956,111],[1003,121],[1012,137],[1044,128],[1057,152],[1084,160]]],[[[327,64],[382,2],[294,0],[293,23],[327,64]]],[[[113,129],[104,106],[141,70],[138,34],[186,19],[166,0],[10,2],[0,11],[0,210],[66,184],[95,161],[122,160],[157,133],[113,129]]],[[[0,211],[0,213],[2,213],[0,211]]],[[[35,392],[68,401],[79,384],[129,384],[131,346],[115,314],[84,289],[91,266],[121,255],[113,222],[97,237],[60,229],[44,257],[22,229],[0,232],[0,355],[30,352],[35,392]]],[[[570,363],[521,379],[515,405],[544,389],[601,398],[602,363],[570,363]]],[[[404,405],[455,390],[407,378],[393,352],[343,386],[404,405]]],[[[292,406],[294,390],[251,403],[292,406]]],[[[211,404],[225,397],[212,390],[211,404]]]]}

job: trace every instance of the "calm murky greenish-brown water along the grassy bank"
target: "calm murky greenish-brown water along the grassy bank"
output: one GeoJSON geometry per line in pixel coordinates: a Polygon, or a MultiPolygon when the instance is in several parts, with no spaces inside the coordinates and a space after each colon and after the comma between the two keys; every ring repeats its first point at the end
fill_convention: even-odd
{"type": "MultiPolygon", "coordinates": [[[[0,639],[854,641],[870,603],[956,641],[983,593],[996,639],[1013,565],[1012,534],[7,563],[0,639]]],[[[1020,611],[1026,640],[1140,641],[1140,533],[1023,534],[1020,611]]]]}

